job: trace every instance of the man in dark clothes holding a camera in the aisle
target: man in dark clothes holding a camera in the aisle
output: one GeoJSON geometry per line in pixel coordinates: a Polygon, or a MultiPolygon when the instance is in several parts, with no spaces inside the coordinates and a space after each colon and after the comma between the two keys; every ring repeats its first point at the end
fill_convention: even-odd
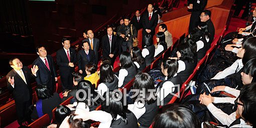
{"type": "Polygon", "coordinates": [[[120,29],[117,30],[118,36],[120,36],[123,40],[121,41],[122,51],[127,51],[131,53],[133,48],[133,39],[137,37],[136,28],[130,24],[130,18],[124,17],[124,24],[121,25],[120,29]],[[131,27],[132,26],[132,27],[131,27]],[[133,34],[132,34],[133,31],[133,34]]]}

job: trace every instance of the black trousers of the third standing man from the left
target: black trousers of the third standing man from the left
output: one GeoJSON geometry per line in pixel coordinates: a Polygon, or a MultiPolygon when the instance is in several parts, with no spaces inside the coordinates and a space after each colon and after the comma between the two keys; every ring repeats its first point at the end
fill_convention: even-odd
{"type": "Polygon", "coordinates": [[[62,71],[60,70],[60,79],[62,89],[69,89],[71,90],[73,87],[73,75],[69,71],[62,71]]]}

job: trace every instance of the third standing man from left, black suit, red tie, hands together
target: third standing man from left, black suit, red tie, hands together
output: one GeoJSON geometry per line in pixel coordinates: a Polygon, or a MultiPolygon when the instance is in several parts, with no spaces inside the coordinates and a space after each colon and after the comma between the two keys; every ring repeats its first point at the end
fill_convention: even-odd
{"type": "Polygon", "coordinates": [[[62,39],[63,48],[57,51],[56,60],[60,69],[60,79],[63,90],[72,89],[73,75],[76,64],[75,49],[70,48],[70,40],[67,38],[62,39]]]}

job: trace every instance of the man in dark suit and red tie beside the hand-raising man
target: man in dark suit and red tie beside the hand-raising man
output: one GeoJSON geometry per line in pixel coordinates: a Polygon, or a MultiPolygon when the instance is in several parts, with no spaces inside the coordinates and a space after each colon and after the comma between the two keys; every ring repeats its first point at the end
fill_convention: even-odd
{"type": "Polygon", "coordinates": [[[51,55],[47,55],[45,47],[38,46],[36,48],[39,57],[33,62],[32,65],[37,65],[39,71],[37,72],[37,85],[45,84],[48,90],[53,94],[54,87],[57,81],[57,72],[55,64],[51,55]]]}

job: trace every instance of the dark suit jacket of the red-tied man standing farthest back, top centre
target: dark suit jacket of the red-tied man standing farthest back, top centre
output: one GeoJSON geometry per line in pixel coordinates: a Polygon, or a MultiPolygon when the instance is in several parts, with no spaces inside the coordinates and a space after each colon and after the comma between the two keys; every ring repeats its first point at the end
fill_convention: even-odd
{"type": "Polygon", "coordinates": [[[158,23],[158,15],[156,13],[153,13],[151,16],[151,20],[149,20],[149,12],[146,12],[143,15],[143,19],[142,19],[142,26],[143,26],[143,31],[142,33],[145,35],[147,34],[146,29],[150,29],[151,30],[151,35],[155,35],[155,29],[157,27],[157,23],[158,23]]]}

